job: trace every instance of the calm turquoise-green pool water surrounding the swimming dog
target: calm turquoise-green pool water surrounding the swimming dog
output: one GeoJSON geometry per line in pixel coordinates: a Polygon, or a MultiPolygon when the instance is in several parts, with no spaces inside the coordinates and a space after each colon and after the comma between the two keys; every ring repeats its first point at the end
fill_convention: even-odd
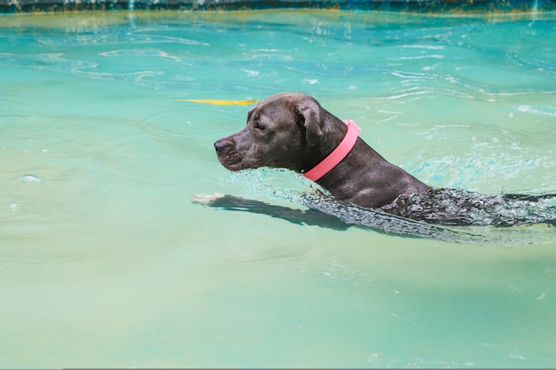
{"type": "Polygon", "coordinates": [[[346,231],[212,143],[314,95],[434,186],[556,193],[556,14],[0,17],[0,366],[553,367],[556,229],[346,231]],[[499,242],[496,240],[500,240],[499,242]]]}

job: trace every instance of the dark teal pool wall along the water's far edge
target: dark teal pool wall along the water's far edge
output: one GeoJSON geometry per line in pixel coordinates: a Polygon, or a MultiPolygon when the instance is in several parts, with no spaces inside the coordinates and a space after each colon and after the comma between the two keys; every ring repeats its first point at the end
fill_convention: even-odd
{"type": "Polygon", "coordinates": [[[553,12],[556,0],[0,0],[0,13],[73,11],[234,11],[334,8],[392,12],[553,12]]]}

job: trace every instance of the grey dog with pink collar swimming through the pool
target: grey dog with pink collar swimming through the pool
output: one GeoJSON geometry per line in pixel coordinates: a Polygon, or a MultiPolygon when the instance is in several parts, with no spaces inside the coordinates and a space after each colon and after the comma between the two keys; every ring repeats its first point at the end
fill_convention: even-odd
{"type": "Polygon", "coordinates": [[[242,130],[214,143],[218,161],[232,171],[291,169],[339,202],[432,224],[556,224],[555,194],[488,196],[433,188],[386,161],[313,97],[278,93],[250,109],[242,130]],[[516,212],[516,209],[525,209],[516,212]]]}

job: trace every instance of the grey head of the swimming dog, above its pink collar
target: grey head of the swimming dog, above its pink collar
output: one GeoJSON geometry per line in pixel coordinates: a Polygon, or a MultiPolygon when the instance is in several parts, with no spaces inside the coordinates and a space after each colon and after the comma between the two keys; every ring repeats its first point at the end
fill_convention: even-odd
{"type": "MultiPolygon", "coordinates": [[[[321,152],[327,146],[338,145],[322,145],[329,141],[323,140],[323,136],[329,126],[334,126],[331,120],[344,126],[308,95],[288,92],[273,95],[249,111],[243,130],[214,143],[218,161],[231,170],[310,169],[326,155],[321,152]]],[[[342,133],[338,135],[341,139],[342,133]]]]}

